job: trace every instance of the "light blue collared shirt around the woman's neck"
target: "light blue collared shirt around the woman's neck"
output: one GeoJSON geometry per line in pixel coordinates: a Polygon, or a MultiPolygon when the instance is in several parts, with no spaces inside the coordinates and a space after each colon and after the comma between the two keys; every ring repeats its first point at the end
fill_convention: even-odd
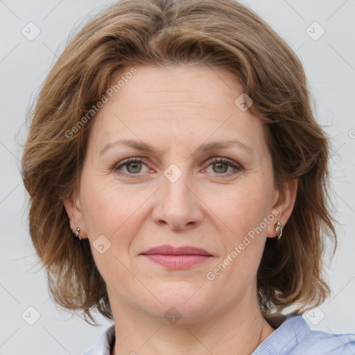
{"type": "MultiPolygon", "coordinates": [[[[110,355],[114,336],[112,324],[84,355],[110,355]]],[[[291,313],[251,355],[355,355],[355,334],[314,331],[302,315],[291,313]]]]}

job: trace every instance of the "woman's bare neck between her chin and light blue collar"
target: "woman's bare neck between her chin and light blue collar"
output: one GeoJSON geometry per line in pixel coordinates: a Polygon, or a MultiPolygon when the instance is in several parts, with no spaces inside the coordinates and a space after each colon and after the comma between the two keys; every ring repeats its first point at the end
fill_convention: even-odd
{"type": "Polygon", "coordinates": [[[233,307],[199,320],[182,317],[175,324],[110,297],[116,331],[112,355],[249,355],[275,329],[263,318],[257,300],[245,296],[233,307]]]}

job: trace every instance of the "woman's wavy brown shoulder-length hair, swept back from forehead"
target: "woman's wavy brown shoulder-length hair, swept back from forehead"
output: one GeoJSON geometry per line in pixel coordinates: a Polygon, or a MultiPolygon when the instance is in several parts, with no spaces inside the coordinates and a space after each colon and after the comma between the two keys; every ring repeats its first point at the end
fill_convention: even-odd
{"type": "Polygon", "coordinates": [[[266,241],[257,275],[261,311],[297,304],[295,313],[302,313],[318,306],[330,293],[322,276],[325,236],[336,250],[329,141],[314,119],[300,60],[265,21],[234,0],[119,1],[81,28],[53,65],[30,112],[21,164],[29,230],[54,301],[82,310],[87,322],[87,316],[95,322],[93,309],[112,320],[89,240],[73,237],[64,209],[80,183],[93,119],[72,137],[65,132],[78,127],[119,71],[184,63],[234,73],[254,101],[250,112],[267,127],[277,187],[299,178],[282,239],[266,241]]]}

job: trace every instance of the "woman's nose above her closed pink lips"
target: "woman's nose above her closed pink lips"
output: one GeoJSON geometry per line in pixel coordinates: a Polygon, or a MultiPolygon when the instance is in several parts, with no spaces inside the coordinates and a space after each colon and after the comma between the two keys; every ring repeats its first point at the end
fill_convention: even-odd
{"type": "Polygon", "coordinates": [[[201,198],[187,173],[182,173],[175,182],[163,175],[162,187],[156,192],[153,220],[172,230],[190,230],[202,222],[201,198]]]}

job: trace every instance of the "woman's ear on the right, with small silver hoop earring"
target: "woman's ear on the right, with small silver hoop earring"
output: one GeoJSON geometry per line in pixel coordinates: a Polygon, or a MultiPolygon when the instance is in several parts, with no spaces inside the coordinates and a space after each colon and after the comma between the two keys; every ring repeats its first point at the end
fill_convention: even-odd
{"type": "Polygon", "coordinates": [[[280,222],[282,227],[284,227],[288,218],[290,218],[293,207],[295,206],[297,186],[298,179],[290,179],[284,182],[282,191],[275,190],[274,199],[272,201],[272,214],[275,216],[275,223],[268,224],[268,238],[274,238],[277,236],[275,230],[277,222],[280,222]]]}

